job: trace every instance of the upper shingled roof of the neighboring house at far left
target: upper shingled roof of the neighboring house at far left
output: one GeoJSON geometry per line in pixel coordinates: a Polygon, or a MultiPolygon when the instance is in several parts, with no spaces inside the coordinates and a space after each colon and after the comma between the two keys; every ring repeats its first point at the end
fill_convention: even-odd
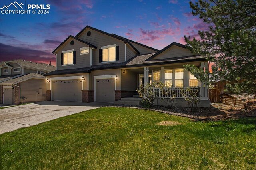
{"type": "Polygon", "coordinates": [[[45,64],[45,63],[35,63],[35,62],[32,62],[32,61],[26,61],[26,60],[23,60],[23,59],[16,59],[14,61],[16,61],[18,64],[20,64],[23,67],[30,67],[30,68],[45,70],[45,71],[54,71],[56,69],[55,66],[48,65],[48,64],[45,64]]]}

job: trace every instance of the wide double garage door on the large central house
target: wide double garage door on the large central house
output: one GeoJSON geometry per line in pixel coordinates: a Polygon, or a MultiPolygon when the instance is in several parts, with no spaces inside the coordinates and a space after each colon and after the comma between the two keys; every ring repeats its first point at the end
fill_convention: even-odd
{"type": "Polygon", "coordinates": [[[52,100],[82,101],[81,80],[52,81],[52,100]]]}

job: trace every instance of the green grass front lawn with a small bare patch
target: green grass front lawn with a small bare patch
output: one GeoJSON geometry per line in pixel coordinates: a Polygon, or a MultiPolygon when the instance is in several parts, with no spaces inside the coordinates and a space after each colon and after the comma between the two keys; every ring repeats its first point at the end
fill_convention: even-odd
{"type": "Polygon", "coordinates": [[[196,122],[156,111],[102,107],[0,139],[0,169],[256,168],[255,118],[196,122]],[[173,125],[158,125],[161,121],[173,125]]]}

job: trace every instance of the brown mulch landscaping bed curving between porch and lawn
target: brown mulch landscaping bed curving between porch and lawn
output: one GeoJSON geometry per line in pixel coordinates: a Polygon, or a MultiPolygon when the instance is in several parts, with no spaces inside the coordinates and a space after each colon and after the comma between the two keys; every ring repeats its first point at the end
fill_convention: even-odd
{"type": "Polygon", "coordinates": [[[188,107],[174,107],[173,109],[168,109],[164,106],[153,106],[150,108],[145,108],[143,106],[131,105],[109,105],[106,107],[128,107],[152,110],[202,121],[217,121],[225,119],[238,119],[241,117],[256,117],[256,101],[250,103],[250,105],[248,105],[246,109],[238,109],[230,107],[228,105],[223,105],[221,103],[212,103],[210,108],[198,108],[196,112],[192,112],[188,107]]]}

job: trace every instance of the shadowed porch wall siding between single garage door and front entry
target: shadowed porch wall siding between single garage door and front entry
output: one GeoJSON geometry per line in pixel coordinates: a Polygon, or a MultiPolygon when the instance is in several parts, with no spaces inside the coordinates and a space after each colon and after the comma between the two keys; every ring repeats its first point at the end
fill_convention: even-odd
{"type": "Polygon", "coordinates": [[[137,73],[133,73],[131,70],[125,70],[125,73],[121,71],[121,90],[136,91],[137,81],[137,73]]]}

